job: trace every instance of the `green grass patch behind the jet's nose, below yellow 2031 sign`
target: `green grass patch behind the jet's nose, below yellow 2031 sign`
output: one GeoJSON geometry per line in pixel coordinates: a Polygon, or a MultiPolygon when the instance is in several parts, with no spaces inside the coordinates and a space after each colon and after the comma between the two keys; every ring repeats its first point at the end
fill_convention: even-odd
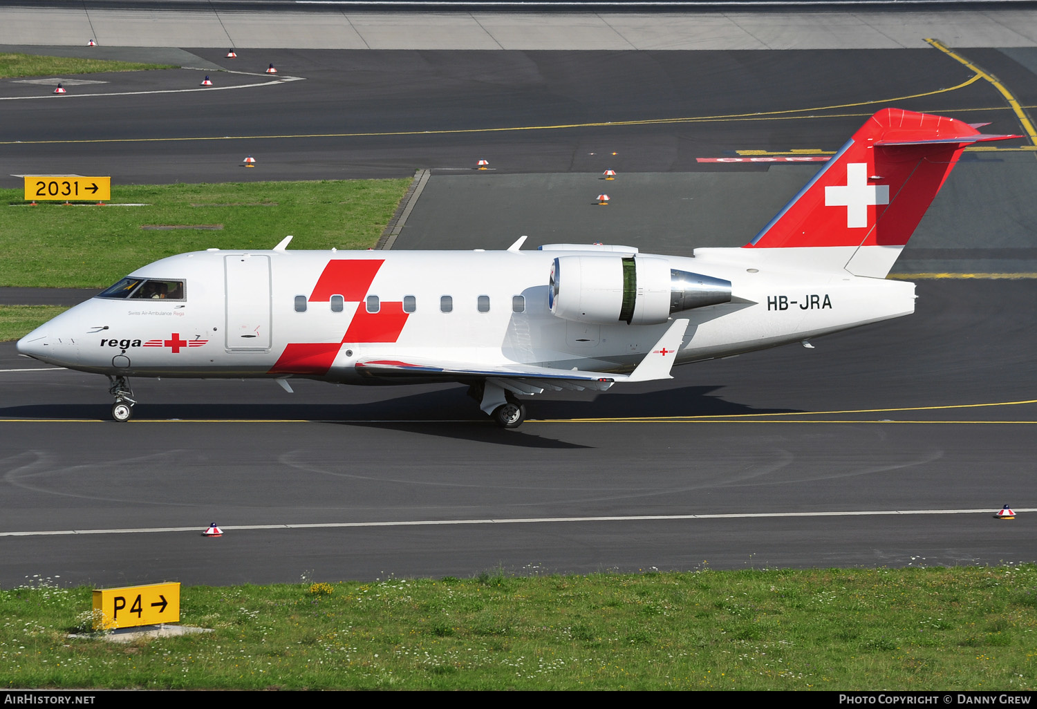
{"type": "MultiPolygon", "coordinates": [[[[245,169],[245,168],[243,168],[245,169]]],[[[113,186],[115,203],[147,206],[28,206],[0,190],[0,286],[103,288],[146,263],[207,248],[374,246],[410,179],[113,186]],[[220,230],[153,231],[145,225],[220,230]]]]}

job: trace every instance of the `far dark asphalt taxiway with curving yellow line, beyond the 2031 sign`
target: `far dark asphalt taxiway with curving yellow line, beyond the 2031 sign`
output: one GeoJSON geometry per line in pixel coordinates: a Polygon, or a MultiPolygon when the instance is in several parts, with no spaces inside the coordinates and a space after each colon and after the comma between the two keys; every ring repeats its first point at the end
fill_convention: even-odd
{"type": "MultiPolygon", "coordinates": [[[[699,159],[832,151],[891,103],[1018,127],[990,82],[931,48],[190,53],[247,74],[91,75],[106,83],[63,95],[0,82],[0,187],[34,173],[110,174],[116,186],[400,177],[478,160],[508,173],[764,171],[699,159]],[[269,63],[277,79],[262,74],[269,63]],[[199,86],[206,75],[215,90],[199,86]],[[243,169],[247,154],[256,169],[243,169]]],[[[1037,64],[1037,49],[969,58],[1037,103],[1019,63],[1037,64]]]]}

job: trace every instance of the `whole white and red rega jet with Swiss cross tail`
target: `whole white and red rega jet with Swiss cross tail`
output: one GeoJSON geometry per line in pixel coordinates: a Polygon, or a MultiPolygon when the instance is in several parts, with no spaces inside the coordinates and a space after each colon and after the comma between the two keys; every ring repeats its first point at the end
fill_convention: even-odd
{"type": "Polygon", "coordinates": [[[523,251],[209,249],[138,268],[18,342],[105,374],[458,381],[500,426],[545,390],[605,391],[700,362],[907,315],[886,280],[969,145],[953,118],[879,111],[755,238],[693,257],[605,245],[523,251]]]}

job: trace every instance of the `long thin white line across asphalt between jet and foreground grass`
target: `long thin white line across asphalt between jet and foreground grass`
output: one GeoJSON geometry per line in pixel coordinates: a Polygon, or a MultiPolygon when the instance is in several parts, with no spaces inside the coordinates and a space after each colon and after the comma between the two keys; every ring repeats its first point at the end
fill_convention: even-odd
{"type": "MultiPolygon", "coordinates": [[[[1037,508],[1016,508],[1021,512],[1037,512],[1037,508]]],[[[258,530],[318,530],[339,529],[349,527],[457,527],[461,524],[543,524],[560,522],[593,522],[593,521],[664,521],[675,519],[740,519],[747,517],[862,517],[879,515],[912,515],[912,514],[989,514],[993,516],[998,510],[870,510],[850,512],[753,512],[748,514],[658,514],[614,517],[517,517],[513,519],[421,519],[413,521],[372,521],[372,522],[324,522],[314,524],[241,524],[224,526],[224,532],[246,532],[258,530]]],[[[156,532],[194,532],[201,534],[201,527],[155,527],[127,530],[54,530],[40,532],[0,532],[0,537],[46,537],[75,534],[152,534],[156,532]]]]}

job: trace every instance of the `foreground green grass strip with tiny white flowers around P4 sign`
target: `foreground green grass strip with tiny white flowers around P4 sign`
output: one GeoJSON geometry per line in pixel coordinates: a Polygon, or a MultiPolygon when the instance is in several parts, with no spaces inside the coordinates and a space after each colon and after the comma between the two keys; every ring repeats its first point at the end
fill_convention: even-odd
{"type": "MultiPolygon", "coordinates": [[[[217,542],[219,543],[219,542],[217,542]]],[[[1037,566],[188,587],[214,632],[66,633],[90,591],[0,592],[18,687],[1033,689],[1037,566]],[[329,592],[330,591],[330,592],[329,592]]]]}

